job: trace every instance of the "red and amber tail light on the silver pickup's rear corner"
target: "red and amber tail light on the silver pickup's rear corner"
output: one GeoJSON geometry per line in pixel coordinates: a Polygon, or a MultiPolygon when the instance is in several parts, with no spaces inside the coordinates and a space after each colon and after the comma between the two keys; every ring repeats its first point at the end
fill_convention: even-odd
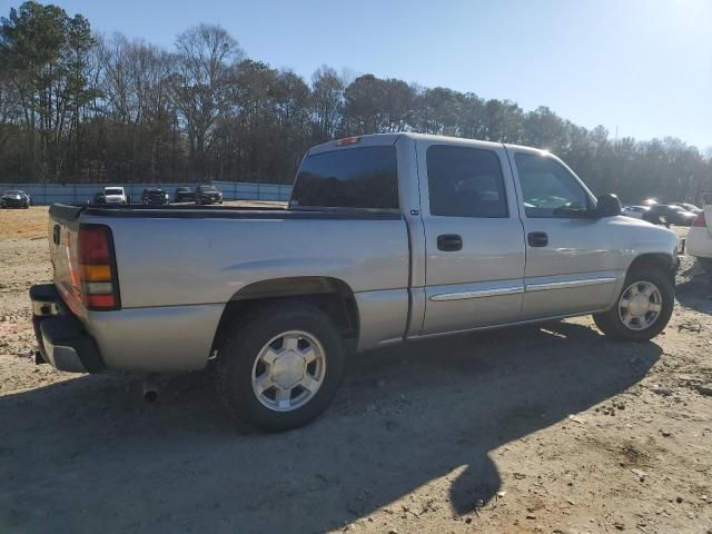
{"type": "Polygon", "coordinates": [[[77,255],[81,301],[88,309],[121,307],[111,230],[103,225],[80,225],[77,255]]]}

